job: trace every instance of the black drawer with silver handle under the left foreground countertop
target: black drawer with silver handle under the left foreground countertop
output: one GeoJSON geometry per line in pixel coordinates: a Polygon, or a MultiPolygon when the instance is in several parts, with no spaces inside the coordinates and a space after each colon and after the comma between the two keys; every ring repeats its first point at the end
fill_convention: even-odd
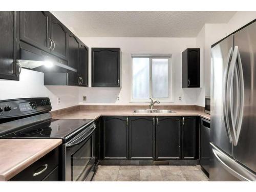
{"type": "Polygon", "coordinates": [[[58,166],[58,163],[59,148],[57,147],[11,178],[10,181],[41,181],[58,166]]]}

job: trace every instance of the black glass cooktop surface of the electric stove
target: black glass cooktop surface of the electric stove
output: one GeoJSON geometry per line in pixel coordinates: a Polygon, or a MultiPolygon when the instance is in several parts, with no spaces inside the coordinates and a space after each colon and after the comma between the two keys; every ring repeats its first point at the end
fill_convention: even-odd
{"type": "Polygon", "coordinates": [[[28,126],[24,129],[9,132],[2,138],[67,138],[80,127],[91,123],[93,119],[50,119],[28,126]]]}

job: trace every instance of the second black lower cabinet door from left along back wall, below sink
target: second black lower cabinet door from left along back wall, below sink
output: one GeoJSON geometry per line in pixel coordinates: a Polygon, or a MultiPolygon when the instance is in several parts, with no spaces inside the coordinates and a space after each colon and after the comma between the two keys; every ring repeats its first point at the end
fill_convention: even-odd
{"type": "Polygon", "coordinates": [[[155,158],[155,117],[130,117],[130,158],[155,158]]]}

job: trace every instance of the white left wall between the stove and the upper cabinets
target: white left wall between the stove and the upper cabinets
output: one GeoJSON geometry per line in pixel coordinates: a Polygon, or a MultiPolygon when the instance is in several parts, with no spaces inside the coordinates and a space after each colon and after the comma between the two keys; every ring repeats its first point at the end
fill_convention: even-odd
{"type": "Polygon", "coordinates": [[[78,88],[68,86],[44,86],[44,73],[22,69],[19,81],[0,79],[0,100],[49,97],[52,111],[78,104],[78,88]],[[60,104],[57,104],[57,97],[60,104]]]}

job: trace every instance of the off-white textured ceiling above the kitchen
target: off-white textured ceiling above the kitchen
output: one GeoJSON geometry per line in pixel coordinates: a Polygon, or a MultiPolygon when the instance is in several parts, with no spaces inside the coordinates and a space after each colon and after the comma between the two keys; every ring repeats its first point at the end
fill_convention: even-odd
{"type": "Polygon", "coordinates": [[[196,37],[205,23],[227,23],[235,11],[54,11],[84,37],[196,37]]]}

